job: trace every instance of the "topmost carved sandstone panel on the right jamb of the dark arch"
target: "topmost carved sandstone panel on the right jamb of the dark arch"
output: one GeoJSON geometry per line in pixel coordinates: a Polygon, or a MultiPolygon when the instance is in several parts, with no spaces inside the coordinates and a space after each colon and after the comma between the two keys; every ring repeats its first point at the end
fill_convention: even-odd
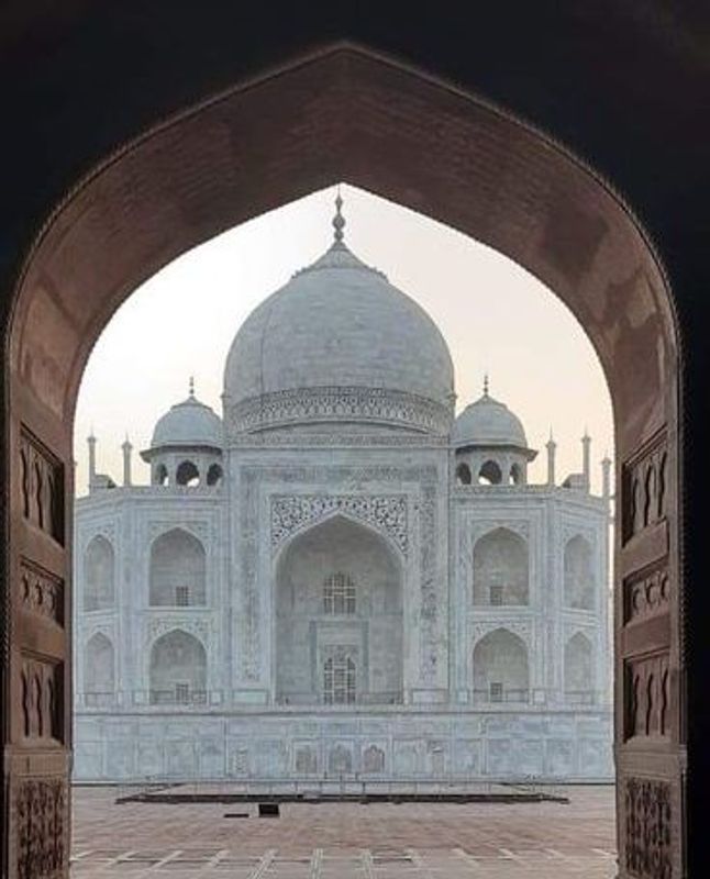
{"type": "Polygon", "coordinates": [[[629,541],[666,515],[668,446],[665,430],[622,467],[622,528],[629,541]]]}

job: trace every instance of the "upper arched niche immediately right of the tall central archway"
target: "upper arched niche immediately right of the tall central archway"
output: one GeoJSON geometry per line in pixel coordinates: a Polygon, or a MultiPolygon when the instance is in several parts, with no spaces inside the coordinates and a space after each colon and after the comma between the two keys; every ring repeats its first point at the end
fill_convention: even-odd
{"type": "Polygon", "coordinates": [[[474,546],[474,604],[528,604],[528,542],[506,527],[484,534],[474,546]]]}

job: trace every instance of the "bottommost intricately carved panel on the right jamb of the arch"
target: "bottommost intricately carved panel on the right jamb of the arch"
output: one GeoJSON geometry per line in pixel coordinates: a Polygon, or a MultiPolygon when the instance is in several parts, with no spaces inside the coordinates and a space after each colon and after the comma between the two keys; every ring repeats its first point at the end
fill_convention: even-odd
{"type": "Polygon", "coordinates": [[[629,778],[624,798],[626,870],[637,879],[673,879],[670,785],[629,778]]]}

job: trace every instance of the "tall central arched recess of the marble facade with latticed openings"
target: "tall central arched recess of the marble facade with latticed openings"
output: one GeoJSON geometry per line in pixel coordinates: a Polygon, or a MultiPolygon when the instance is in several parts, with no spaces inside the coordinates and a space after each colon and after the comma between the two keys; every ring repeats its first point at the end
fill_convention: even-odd
{"type": "Polygon", "coordinates": [[[397,552],[352,519],[337,515],[293,537],[276,566],[277,700],[400,702],[402,587],[397,552]]]}

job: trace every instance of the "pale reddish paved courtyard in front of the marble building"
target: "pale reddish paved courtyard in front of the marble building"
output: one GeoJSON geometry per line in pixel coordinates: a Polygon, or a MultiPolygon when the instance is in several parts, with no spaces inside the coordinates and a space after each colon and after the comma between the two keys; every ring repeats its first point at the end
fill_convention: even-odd
{"type": "Polygon", "coordinates": [[[611,879],[612,787],[561,803],[115,804],[76,788],[73,879],[611,879]],[[246,812],[248,817],[225,817],[246,812]]]}

